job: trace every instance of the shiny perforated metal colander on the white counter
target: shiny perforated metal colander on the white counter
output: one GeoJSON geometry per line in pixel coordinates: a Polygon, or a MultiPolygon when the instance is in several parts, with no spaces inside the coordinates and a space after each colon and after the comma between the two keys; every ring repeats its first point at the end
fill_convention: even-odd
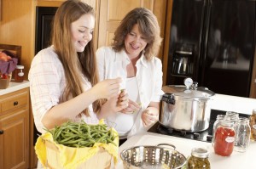
{"type": "Polygon", "coordinates": [[[160,169],[182,168],[186,163],[186,157],[175,150],[172,144],[158,144],[156,146],[136,146],[124,149],[121,159],[125,169],[160,169]],[[171,146],[172,149],[163,147],[171,146]]]}

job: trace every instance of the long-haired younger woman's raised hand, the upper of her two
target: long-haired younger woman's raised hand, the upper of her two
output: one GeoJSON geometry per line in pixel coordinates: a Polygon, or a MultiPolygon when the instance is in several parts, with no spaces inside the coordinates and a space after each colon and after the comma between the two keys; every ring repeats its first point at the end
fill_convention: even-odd
{"type": "Polygon", "coordinates": [[[119,94],[120,83],[122,79],[106,79],[102,82],[98,82],[94,87],[94,91],[97,94],[98,99],[109,99],[119,94]]]}

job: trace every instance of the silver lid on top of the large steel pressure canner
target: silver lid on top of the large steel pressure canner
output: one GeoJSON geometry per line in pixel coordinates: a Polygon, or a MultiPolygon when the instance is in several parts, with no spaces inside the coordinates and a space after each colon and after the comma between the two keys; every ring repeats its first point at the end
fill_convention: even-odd
{"type": "Polygon", "coordinates": [[[162,88],[165,93],[172,93],[175,96],[184,98],[199,98],[207,99],[212,97],[215,93],[207,87],[186,87],[184,85],[168,85],[162,88]]]}

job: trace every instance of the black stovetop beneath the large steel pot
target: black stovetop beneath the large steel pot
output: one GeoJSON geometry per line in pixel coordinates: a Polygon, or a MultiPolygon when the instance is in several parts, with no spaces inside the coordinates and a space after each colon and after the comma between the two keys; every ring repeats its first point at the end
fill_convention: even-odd
{"type": "MultiPolygon", "coordinates": [[[[186,131],[176,131],[170,127],[165,127],[160,124],[160,122],[156,122],[153,127],[148,129],[148,132],[160,133],[164,135],[169,135],[178,138],[188,138],[194,139],[203,142],[212,142],[212,127],[213,123],[216,121],[217,115],[225,115],[226,111],[223,110],[211,110],[210,115],[210,124],[207,130],[202,132],[186,132],[186,131]]],[[[239,116],[249,117],[249,115],[239,114],[239,116]]]]}

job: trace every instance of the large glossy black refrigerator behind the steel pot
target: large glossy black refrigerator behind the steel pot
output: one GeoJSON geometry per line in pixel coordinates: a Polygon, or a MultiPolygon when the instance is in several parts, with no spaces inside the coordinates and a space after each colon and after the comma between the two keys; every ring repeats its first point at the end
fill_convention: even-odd
{"type": "Polygon", "coordinates": [[[173,0],[166,84],[249,97],[256,0],[173,0]]]}

